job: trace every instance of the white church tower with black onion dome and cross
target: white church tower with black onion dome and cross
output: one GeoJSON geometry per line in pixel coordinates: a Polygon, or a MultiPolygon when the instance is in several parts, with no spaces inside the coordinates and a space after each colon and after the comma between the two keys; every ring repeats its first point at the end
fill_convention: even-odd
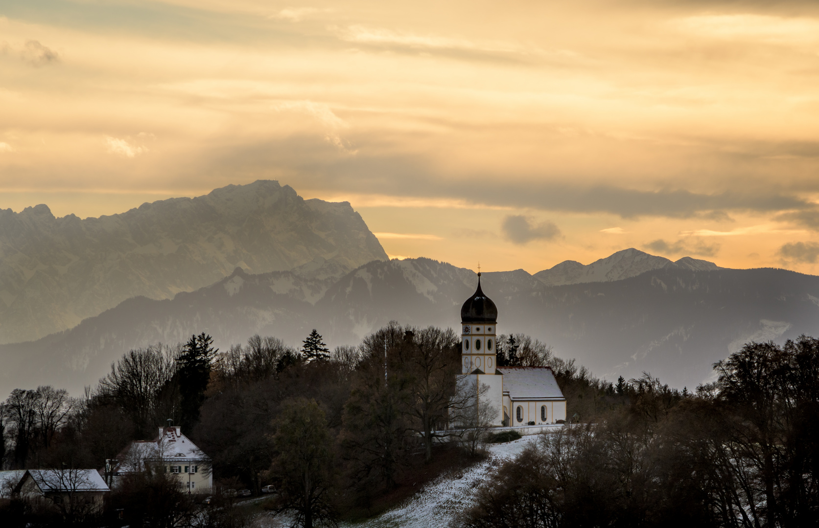
{"type": "Polygon", "coordinates": [[[497,320],[498,309],[482,292],[478,272],[477,290],[461,307],[461,374],[495,374],[497,320]]]}

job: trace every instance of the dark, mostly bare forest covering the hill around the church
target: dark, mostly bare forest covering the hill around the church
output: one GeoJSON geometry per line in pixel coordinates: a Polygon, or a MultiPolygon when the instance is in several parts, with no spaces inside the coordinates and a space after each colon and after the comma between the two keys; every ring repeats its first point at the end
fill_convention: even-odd
{"type": "MultiPolygon", "coordinates": [[[[499,464],[455,525],[756,528],[819,518],[817,339],[750,342],[713,365],[714,383],[691,390],[647,373],[601,380],[522,334],[501,336],[498,351],[499,366],[549,366],[571,419],[499,464]]],[[[333,351],[315,330],[299,349],[253,336],[219,351],[201,333],[132,350],[81,397],[48,386],[11,392],[0,405],[2,469],[94,468],[108,478],[106,462],[172,420],[212,459],[208,499],[149,469],[124,478],[95,515],[4,494],[0,517],[5,526],[226,528],[274,514],[308,527],[374,517],[509,440],[475,411],[479,396],[463,396],[459,369],[452,330],[397,323],[333,351]],[[242,488],[265,497],[256,509],[224,493],[242,488]]]]}

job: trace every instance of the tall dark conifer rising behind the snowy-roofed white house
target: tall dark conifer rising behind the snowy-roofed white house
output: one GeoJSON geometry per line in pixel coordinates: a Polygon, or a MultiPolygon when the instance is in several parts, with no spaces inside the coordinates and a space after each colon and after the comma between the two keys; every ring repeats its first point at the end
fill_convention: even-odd
{"type": "Polygon", "coordinates": [[[179,394],[182,396],[181,425],[188,431],[199,422],[199,408],[205,401],[205,391],[210,381],[210,368],[218,352],[213,338],[204,332],[192,335],[185,343],[182,354],[176,358],[179,365],[179,394]]]}

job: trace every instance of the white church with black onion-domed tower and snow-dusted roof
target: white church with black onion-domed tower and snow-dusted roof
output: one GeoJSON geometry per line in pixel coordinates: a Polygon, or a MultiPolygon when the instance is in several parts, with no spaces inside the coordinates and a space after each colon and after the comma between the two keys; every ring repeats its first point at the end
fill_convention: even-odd
{"type": "Polygon", "coordinates": [[[497,366],[498,309],[481,289],[461,307],[461,376],[470,387],[487,387],[481,402],[498,409],[496,427],[563,423],[566,398],[549,367],[497,366]],[[474,385],[473,385],[474,384],[474,385]]]}

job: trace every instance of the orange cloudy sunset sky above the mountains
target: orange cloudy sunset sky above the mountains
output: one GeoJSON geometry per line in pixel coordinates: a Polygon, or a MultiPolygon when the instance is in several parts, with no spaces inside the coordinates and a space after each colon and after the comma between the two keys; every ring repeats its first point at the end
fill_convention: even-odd
{"type": "Polygon", "coordinates": [[[270,178],[394,256],[819,273],[815,5],[0,0],[0,207],[270,178]]]}

